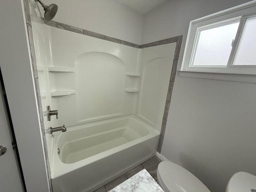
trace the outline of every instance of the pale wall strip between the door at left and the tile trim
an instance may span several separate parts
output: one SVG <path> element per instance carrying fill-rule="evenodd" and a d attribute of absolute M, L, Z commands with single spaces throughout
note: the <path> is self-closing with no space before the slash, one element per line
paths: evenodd
<path fill-rule="evenodd" d="M 0 67 L 27 192 L 48 192 L 22 0 L 0 2 Z"/>

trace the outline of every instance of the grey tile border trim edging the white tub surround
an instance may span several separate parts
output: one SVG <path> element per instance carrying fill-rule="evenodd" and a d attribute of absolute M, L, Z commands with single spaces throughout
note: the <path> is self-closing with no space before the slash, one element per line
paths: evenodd
<path fill-rule="evenodd" d="M 40 88 L 39 88 L 39 81 L 38 81 L 38 72 L 37 72 L 37 67 L 36 67 L 36 58 L 35 58 L 35 49 L 34 49 L 34 43 L 33 43 L 33 35 L 32 35 L 32 24 L 31 24 L 31 16 L 30 16 L 30 7 L 29 7 L 29 0 L 24 0 L 24 10 L 25 10 L 25 15 L 26 15 L 26 25 L 27 25 L 27 29 L 28 29 L 28 37 L 29 37 L 29 43 L 30 43 L 30 58 L 32 61 L 32 68 L 33 68 L 33 75 L 34 75 L 34 82 L 35 82 L 35 86 L 36 86 L 36 96 L 37 96 L 37 102 L 38 102 L 38 114 L 40 116 L 40 123 L 41 123 L 41 131 L 42 131 L 42 141 L 44 144 L 44 153 L 46 156 L 46 167 L 47 167 L 47 172 L 48 172 L 48 178 L 49 178 L 49 184 L 50 184 L 50 191 L 52 192 L 52 184 L 51 184 L 51 179 L 50 179 L 50 166 L 49 166 L 49 160 L 48 160 L 48 152 L 47 152 L 47 146 L 46 146 L 46 137 L 45 137 L 45 131 L 44 131 L 44 121 L 43 121 L 43 108 L 42 108 L 42 102 L 41 102 L 41 96 L 40 96 Z M 103 34 L 98 34 L 95 32 L 91 32 L 85 29 L 81 29 L 81 28 L 77 28 L 74 26 L 70 26 L 67 24 L 63 24 L 60 22 L 55 22 L 55 21 L 50 21 L 47 22 L 46 20 L 44 20 L 45 24 L 52 26 L 52 27 L 56 27 L 56 28 L 60 28 L 60 29 L 64 29 L 64 30 L 68 30 L 68 31 L 72 31 L 72 32 L 76 32 L 79 34 L 84 34 L 87 36 L 92 36 L 94 38 L 100 38 L 103 40 L 107 40 L 107 41 L 111 41 L 111 42 L 115 42 L 118 44 L 123 44 L 126 46 L 131 46 L 134 48 L 147 48 L 147 47 L 152 47 L 152 46 L 158 46 L 158 45 L 163 45 L 163 44 L 168 44 L 168 43 L 173 43 L 173 42 L 177 42 L 176 43 L 176 50 L 175 50 L 175 54 L 174 54 L 174 60 L 173 60 L 173 65 L 172 65 L 172 72 L 171 72 L 171 77 L 170 77 L 170 82 L 169 82 L 169 88 L 168 88 L 168 94 L 167 94 L 167 98 L 166 98 L 166 105 L 165 105 L 165 109 L 164 109 L 164 116 L 163 116 L 163 120 L 162 120 L 162 127 L 161 127 L 161 133 L 160 133 L 160 139 L 159 139 L 159 144 L 158 144 L 158 152 L 161 152 L 161 148 L 162 148 L 162 142 L 164 139 L 164 132 L 165 132 L 165 128 L 166 128 L 166 120 L 168 117 L 168 112 L 169 112 L 169 106 L 170 106 L 170 101 L 171 101 L 171 96 L 172 96 L 172 88 L 174 85 L 174 80 L 175 80 L 175 75 L 176 75 L 176 71 L 177 71 L 177 65 L 178 65 L 178 59 L 179 59 L 179 55 L 180 55 L 180 48 L 181 48 L 181 43 L 182 43 L 182 36 L 176 36 L 176 37 L 172 37 L 172 38 L 168 38 L 168 39 L 164 39 L 164 40 L 160 40 L 160 41 L 156 41 L 156 42 L 152 42 L 152 43 L 148 43 L 148 44 L 143 44 L 143 45 L 138 45 L 138 44 L 134 44 L 131 42 L 126 42 L 124 40 L 120 40 L 120 39 L 116 39 L 110 36 L 105 36 Z"/>

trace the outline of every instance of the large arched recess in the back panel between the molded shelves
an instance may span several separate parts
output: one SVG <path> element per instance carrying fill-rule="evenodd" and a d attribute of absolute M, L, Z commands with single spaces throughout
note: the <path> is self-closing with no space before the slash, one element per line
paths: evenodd
<path fill-rule="evenodd" d="M 124 62 L 108 53 L 87 52 L 76 58 L 77 121 L 123 114 Z"/>

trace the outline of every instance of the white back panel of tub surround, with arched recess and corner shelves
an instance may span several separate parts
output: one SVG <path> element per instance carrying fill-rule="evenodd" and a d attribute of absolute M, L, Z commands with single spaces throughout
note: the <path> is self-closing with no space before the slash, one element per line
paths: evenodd
<path fill-rule="evenodd" d="M 136 114 L 141 50 L 58 28 L 51 34 L 50 70 L 61 68 L 50 71 L 54 126 Z"/>

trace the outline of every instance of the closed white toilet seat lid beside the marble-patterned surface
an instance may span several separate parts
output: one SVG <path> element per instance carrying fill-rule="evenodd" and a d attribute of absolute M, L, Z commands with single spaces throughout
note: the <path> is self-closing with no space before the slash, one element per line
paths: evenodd
<path fill-rule="evenodd" d="M 165 192 L 210 192 L 196 176 L 169 161 L 158 165 L 157 180 Z"/>

